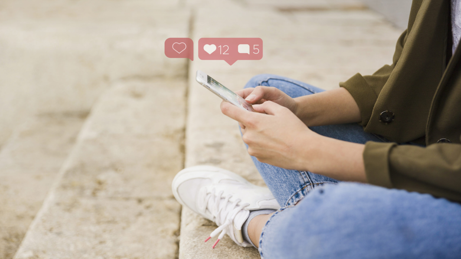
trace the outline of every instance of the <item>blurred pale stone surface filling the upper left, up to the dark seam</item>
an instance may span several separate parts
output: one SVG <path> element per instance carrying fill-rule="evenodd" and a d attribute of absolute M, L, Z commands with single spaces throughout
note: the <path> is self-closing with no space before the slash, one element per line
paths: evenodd
<path fill-rule="evenodd" d="M 163 42 L 188 29 L 179 0 L 0 1 L 0 146 L 37 112 L 88 111 L 120 78 L 185 77 Z"/>

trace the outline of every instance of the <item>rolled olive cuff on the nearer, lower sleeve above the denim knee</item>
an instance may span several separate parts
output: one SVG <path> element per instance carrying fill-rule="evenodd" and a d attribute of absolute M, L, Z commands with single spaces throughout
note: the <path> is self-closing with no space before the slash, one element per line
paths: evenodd
<path fill-rule="evenodd" d="M 368 183 L 392 188 L 389 171 L 389 153 L 396 143 L 368 141 L 363 151 L 365 174 Z"/>

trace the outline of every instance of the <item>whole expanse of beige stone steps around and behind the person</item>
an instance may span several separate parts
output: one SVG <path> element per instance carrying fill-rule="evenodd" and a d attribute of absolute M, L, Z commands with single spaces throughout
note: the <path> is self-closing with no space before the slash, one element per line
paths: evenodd
<path fill-rule="evenodd" d="M 12 108 L 28 120 L 41 116 L 29 126 L 0 115 L 9 123 L 0 144 L 16 132 L 0 151 L 0 191 L 7 194 L 0 198 L 0 258 L 6 259 L 259 258 L 227 236 L 211 249 L 203 240 L 215 225 L 171 194 L 174 175 L 192 165 L 220 166 L 264 185 L 236 122 L 195 82 L 195 71 L 233 90 L 260 73 L 332 89 L 390 63 L 400 35 L 358 0 L 82 0 L 24 9 L 25 3 L 2 3 L 14 12 L 0 20 L 21 22 L 0 25 L 0 42 L 13 53 L 12 64 L 0 69 L 29 64 L 28 70 L 22 81 L 11 73 L 0 85 L 21 82 L 19 94 L 4 98 L 9 104 L 40 89 L 47 94 L 33 107 Z M 164 56 L 166 38 L 188 36 L 195 53 L 201 37 L 260 37 L 264 57 L 229 66 L 197 54 L 194 61 Z M 34 48 L 26 44 L 31 39 Z M 56 72 L 37 81 L 31 75 L 47 53 L 42 71 Z M 24 64 L 17 61 L 23 57 Z M 65 122 L 54 119 L 61 118 L 56 110 Z"/>

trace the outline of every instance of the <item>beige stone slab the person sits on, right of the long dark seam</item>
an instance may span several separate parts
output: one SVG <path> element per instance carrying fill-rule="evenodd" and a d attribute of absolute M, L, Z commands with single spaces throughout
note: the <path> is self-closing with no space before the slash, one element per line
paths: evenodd
<path fill-rule="evenodd" d="M 231 66 L 222 60 L 190 62 L 185 165 L 217 165 L 256 184 L 263 182 L 246 153 L 237 123 L 221 114 L 218 97 L 195 82 L 195 71 L 206 72 L 232 90 L 260 73 L 332 89 L 356 72 L 370 74 L 389 64 L 400 35 L 380 15 L 366 10 L 277 12 L 244 9 L 231 2 L 207 6 L 196 9 L 195 42 L 201 37 L 260 37 L 264 56 Z M 227 236 L 211 249 L 212 244 L 203 240 L 214 228 L 183 208 L 179 258 L 258 258 L 256 249 L 238 247 Z"/>

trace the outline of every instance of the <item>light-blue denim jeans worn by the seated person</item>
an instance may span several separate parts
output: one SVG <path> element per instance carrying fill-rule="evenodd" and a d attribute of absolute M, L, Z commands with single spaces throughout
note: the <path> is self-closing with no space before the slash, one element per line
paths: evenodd
<path fill-rule="evenodd" d="M 245 88 L 258 85 L 279 88 L 291 97 L 323 91 L 275 75 L 253 77 Z M 311 130 L 355 143 L 387 141 L 364 132 L 358 124 Z M 461 258 L 459 203 L 429 194 L 338 182 L 252 159 L 282 206 L 263 228 L 261 258 Z"/>

